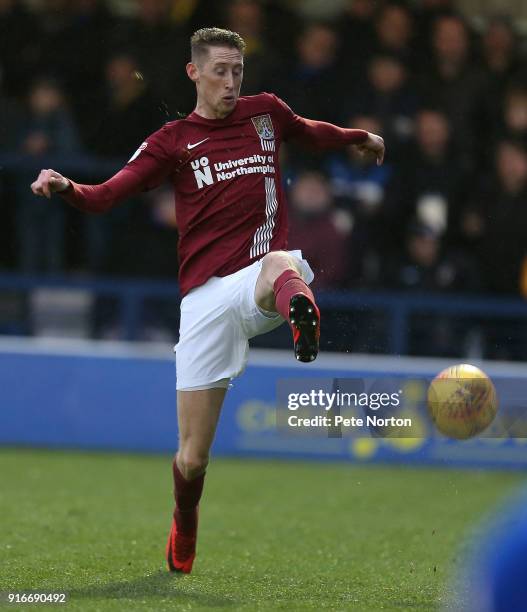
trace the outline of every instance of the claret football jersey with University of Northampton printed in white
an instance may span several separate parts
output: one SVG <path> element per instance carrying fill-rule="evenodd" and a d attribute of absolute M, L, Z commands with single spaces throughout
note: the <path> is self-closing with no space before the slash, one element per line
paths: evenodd
<path fill-rule="evenodd" d="M 360 144 L 367 132 L 304 119 L 273 94 L 239 98 L 224 119 L 195 112 L 152 134 L 117 175 L 71 187 L 72 205 L 104 212 L 169 179 L 179 231 L 182 295 L 287 246 L 280 145 L 289 138 L 322 148 Z"/>

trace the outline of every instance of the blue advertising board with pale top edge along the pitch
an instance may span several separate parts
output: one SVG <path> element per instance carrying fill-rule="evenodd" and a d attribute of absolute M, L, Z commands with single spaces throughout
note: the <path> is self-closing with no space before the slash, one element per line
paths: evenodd
<path fill-rule="evenodd" d="M 276 427 L 278 380 L 402 376 L 414 396 L 437 359 L 323 354 L 296 363 L 288 351 L 253 350 L 227 393 L 214 445 L 223 456 L 526 468 L 526 438 L 446 440 L 292 436 Z M 478 364 L 495 382 L 527 383 L 527 366 Z M 175 368 L 170 347 L 93 341 L 0 339 L 1 445 L 172 452 Z"/>

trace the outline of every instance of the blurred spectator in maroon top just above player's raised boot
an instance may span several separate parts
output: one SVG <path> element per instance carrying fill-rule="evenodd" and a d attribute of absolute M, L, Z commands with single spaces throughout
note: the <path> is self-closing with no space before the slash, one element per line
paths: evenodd
<path fill-rule="evenodd" d="M 301 249 L 317 270 L 317 288 L 342 285 L 347 275 L 350 222 L 335 208 L 327 180 L 318 173 L 301 174 L 293 183 L 289 201 L 289 245 Z"/>

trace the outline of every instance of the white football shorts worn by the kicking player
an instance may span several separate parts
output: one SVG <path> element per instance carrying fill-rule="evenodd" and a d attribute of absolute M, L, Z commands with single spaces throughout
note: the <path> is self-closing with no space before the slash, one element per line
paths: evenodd
<path fill-rule="evenodd" d="M 301 251 L 289 251 L 301 262 L 306 283 L 313 271 Z M 181 300 L 179 342 L 176 344 L 176 388 L 227 387 L 247 365 L 249 338 L 265 334 L 284 322 L 264 313 L 254 301 L 262 260 L 229 276 L 213 276 Z"/>

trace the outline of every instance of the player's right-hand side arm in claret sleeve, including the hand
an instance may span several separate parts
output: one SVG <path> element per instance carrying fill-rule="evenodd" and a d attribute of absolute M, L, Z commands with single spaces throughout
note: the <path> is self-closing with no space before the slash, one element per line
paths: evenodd
<path fill-rule="evenodd" d="M 325 121 L 306 119 L 294 113 L 285 102 L 273 96 L 278 105 L 280 123 L 286 139 L 292 139 L 317 149 L 338 149 L 355 145 L 362 153 L 373 153 L 377 165 L 384 161 L 384 140 L 377 134 L 341 128 Z"/>

